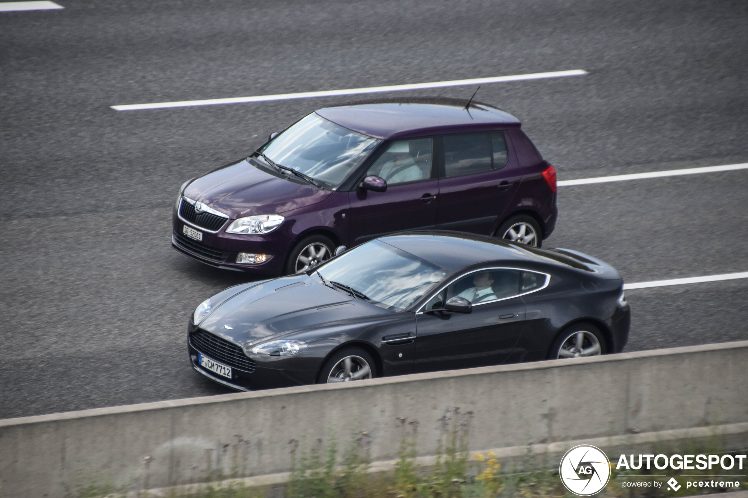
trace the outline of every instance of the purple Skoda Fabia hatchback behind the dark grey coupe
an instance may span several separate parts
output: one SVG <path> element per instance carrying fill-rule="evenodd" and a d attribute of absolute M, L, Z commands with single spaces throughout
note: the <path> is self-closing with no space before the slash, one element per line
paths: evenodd
<path fill-rule="evenodd" d="M 539 247 L 557 217 L 556 171 L 521 123 L 458 99 L 319 109 L 248 158 L 186 181 L 172 246 L 227 270 L 310 270 L 340 246 L 441 228 Z"/>

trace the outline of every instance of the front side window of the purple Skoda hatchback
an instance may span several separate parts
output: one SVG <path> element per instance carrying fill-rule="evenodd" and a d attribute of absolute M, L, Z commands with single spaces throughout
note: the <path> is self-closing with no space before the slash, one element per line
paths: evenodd
<path fill-rule="evenodd" d="M 431 179 L 432 139 L 396 140 L 369 168 L 387 186 Z"/>

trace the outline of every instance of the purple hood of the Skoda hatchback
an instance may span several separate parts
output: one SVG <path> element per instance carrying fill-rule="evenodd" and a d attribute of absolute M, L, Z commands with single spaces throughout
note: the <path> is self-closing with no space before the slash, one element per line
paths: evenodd
<path fill-rule="evenodd" d="M 320 202 L 330 193 L 330 190 L 279 178 L 244 160 L 197 178 L 187 186 L 184 196 L 231 218 L 240 218 L 281 214 Z"/>

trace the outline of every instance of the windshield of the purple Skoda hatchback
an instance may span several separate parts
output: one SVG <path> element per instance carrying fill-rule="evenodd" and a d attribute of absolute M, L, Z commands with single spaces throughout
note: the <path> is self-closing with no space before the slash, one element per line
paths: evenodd
<path fill-rule="evenodd" d="M 260 152 L 279 166 L 334 188 L 379 142 L 311 113 Z"/>

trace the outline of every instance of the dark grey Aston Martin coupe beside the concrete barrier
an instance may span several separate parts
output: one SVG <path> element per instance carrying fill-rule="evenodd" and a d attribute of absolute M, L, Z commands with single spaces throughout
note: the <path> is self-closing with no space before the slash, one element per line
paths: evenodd
<path fill-rule="evenodd" d="M 601 355 L 628 340 L 622 287 L 568 249 L 394 234 L 206 299 L 188 349 L 194 370 L 237 390 Z"/>

